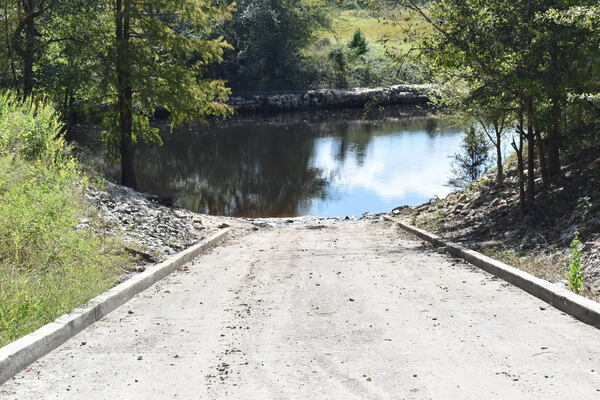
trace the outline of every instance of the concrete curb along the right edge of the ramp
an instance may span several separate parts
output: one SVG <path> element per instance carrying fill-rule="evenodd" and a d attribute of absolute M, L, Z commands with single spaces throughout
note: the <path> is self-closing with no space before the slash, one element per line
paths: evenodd
<path fill-rule="evenodd" d="M 554 306 L 555 308 L 577 318 L 581 322 L 600 329 L 600 304 L 575 294 L 565 288 L 554 285 L 548 281 L 537 278 L 527 272 L 521 271 L 508 264 L 504 264 L 493 258 L 484 256 L 474 250 L 468 249 L 456 243 L 442 239 L 441 237 L 416 228 L 412 225 L 398 221 L 390 216 L 384 215 L 386 221 L 397 224 L 402 229 L 424 239 L 435 247 L 445 247 L 451 255 L 463 260 L 505 280 L 508 283 L 526 291 L 540 300 Z"/>

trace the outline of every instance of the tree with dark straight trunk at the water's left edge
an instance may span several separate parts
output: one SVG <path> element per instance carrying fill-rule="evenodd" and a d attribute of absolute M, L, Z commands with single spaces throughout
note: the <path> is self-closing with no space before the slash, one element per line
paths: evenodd
<path fill-rule="evenodd" d="M 99 4 L 107 27 L 98 38 L 96 87 L 87 96 L 110 107 L 107 142 L 118 148 L 121 182 L 136 186 L 133 144 L 160 141 L 150 120 L 165 109 L 172 125 L 225 116 L 229 91 L 222 80 L 202 79 L 205 66 L 230 46 L 210 38 L 216 21 L 231 14 L 210 0 L 110 0 Z"/>

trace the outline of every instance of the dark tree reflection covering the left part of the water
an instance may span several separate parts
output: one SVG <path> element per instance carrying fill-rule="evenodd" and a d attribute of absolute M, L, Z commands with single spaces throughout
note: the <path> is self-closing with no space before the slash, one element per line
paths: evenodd
<path fill-rule="evenodd" d="M 165 133 L 162 147 L 137 146 L 140 190 L 215 215 L 306 215 L 315 202 L 344 196 L 335 187 L 342 173 L 339 168 L 349 159 L 363 167 L 375 138 L 398 132 L 448 133 L 447 122 L 396 112 L 238 116 L 213 125 L 187 126 Z M 334 147 L 336 166 L 328 170 L 315 159 L 324 141 Z M 367 209 L 369 205 L 364 205 Z"/>

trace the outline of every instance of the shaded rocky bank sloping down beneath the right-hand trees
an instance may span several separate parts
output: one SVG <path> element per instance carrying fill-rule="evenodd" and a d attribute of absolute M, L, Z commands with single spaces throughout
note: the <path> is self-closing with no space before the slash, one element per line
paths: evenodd
<path fill-rule="evenodd" d="M 506 179 L 495 182 L 486 174 L 471 187 L 434 198 L 417 207 L 393 213 L 404 221 L 460 242 L 537 277 L 568 287 L 570 244 L 576 232 L 584 242 L 584 296 L 600 300 L 600 188 L 594 171 L 600 170 L 600 148 L 565 155 L 563 176 L 537 194 L 539 211 L 521 218 L 518 178 L 514 162 Z M 543 206 L 542 206 L 543 205 Z"/>

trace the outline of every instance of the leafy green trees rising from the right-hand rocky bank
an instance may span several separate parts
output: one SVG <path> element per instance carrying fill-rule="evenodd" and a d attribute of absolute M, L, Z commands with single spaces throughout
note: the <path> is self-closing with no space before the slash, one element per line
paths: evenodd
<path fill-rule="evenodd" d="M 418 0 L 393 1 L 420 14 L 435 34 L 419 42 L 423 65 L 440 83 L 461 80 L 478 106 L 498 109 L 517 120 L 527 153 L 526 196 L 521 205 L 535 211 L 536 158 L 543 188 L 560 174 L 561 149 L 569 122 L 567 94 L 573 88 L 597 86 L 598 46 L 590 43 L 594 12 L 586 12 L 585 28 L 561 28 L 557 19 L 573 15 L 573 6 L 595 9 L 587 0 Z M 561 17 L 562 16 L 562 17 Z M 567 18 L 568 19 L 568 18 Z M 587 36 L 586 36 L 587 35 Z M 591 36 L 591 37 L 596 37 Z M 596 67 L 594 67 L 596 65 Z M 590 78 L 592 77 L 592 78 Z M 597 80 L 596 80 L 597 82 Z M 487 113 L 487 111 L 486 111 Z M 524 160 L 522 160 L 524 161 Z"/>

